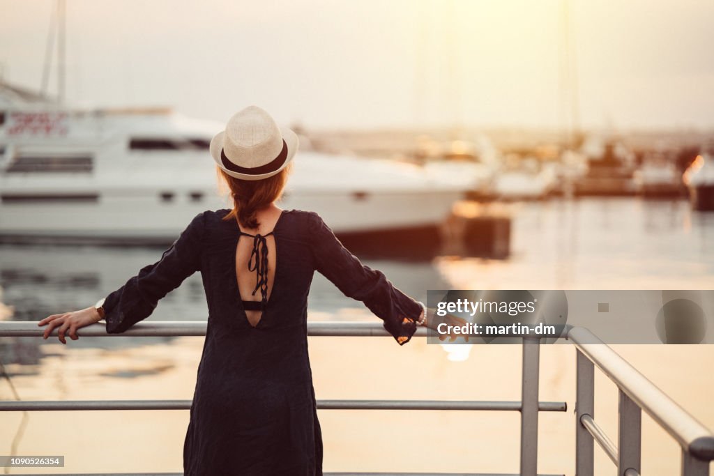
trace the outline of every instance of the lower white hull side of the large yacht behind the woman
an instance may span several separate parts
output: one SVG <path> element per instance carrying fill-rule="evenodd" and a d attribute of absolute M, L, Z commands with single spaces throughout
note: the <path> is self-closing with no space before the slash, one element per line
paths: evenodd
<path fill-rule="evenodd" d="M 196 214 L 230 208 L 216 192 L 89 191 L 41 199 L 4 191 L 0 240 L 109 243 L 170 243 Z M 55 198 L 57 195 L 55 195 Z M 288 191 L 278 205 L 316 211 L 338 234 L 379 233 L 438 226 L 461 198 L 458 191 Z"/>

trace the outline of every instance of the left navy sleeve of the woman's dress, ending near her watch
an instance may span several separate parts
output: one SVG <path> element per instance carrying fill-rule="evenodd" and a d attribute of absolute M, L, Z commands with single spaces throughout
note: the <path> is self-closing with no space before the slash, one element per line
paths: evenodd
<path fill-rule="evenodd" d="M 159 299 L 201 268 L 203 224 L 204 214 L 198 213 L 159 261 L 144 266 L 121 288 L 106 296 L 104 319 L 107 333 L 123 333 L 149 317 Z"/>

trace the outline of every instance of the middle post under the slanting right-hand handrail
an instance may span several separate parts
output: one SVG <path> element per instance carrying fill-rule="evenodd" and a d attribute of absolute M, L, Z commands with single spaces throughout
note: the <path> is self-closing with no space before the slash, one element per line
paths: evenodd
<path fill-rule="evenodd" d="M 623 476 L 630 468 L 640 472 L 642 410 L 622 390 L 618 393 L 618 476 Z"/>

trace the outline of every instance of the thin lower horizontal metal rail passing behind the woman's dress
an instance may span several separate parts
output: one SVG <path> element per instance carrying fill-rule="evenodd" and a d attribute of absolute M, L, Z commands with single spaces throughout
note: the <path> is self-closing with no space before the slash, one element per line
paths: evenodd
<path fill-rule="evenodd" d="M 521 411 L 521 402 L 476 400 L 317 400 L 322 410 Z M 0 400 L 0 412 L 68 410 L 188 410 L 191 400 Z M 565 412 L 565 402 L 540 402 L 541 412 Z"/>

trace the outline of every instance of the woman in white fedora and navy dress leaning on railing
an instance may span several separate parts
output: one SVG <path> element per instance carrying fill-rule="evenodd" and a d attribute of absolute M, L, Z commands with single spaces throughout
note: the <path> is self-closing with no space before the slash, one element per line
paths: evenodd
<path fill-rule="evenodd" d="M 308 360 L 307 298 L 318 271 L 381 318 L 399 345 L 426 307 L 343 248 L 317 213 L 281 210 L 298 148 L 255 106 L 234 115 L 211 141 L 233 209 L 199 213 L 161 259 L 94 307 L 50 315 L 47 338 L 106 320 L 122 333 L 159 299 L 200 271 L 208 327 L 183 450 L 184 474 L 321 475 L 322 437 Z"/>

